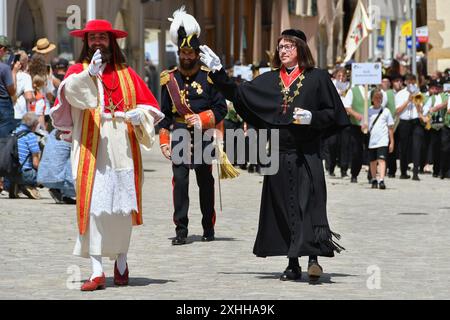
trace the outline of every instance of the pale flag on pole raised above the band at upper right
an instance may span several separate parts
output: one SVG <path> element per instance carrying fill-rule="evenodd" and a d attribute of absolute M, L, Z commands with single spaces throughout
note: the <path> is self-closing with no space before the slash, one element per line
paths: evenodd
<path fill-rule="evenodd" d="M 345 62 L 352 58 L 353 54 L 358 50 L 363 40 L 369 36 L 370 32 L 372 32 L 372 23 L 363 3 L 359 0 L 345 42 L 347 54 L 344 60 Z"/>

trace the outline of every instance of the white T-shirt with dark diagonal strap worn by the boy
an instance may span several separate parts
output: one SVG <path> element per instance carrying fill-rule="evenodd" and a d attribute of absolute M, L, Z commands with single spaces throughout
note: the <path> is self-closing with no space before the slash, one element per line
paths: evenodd
<path fill-rule="evenodd" d="M 369 149 L 389 146 L 389 127 L 394 126 L 394 119 L 389 109 L 383 108 L 383 113 L 377 123 L 373 125 L 381 110 L 381 108 L 375 109 L 373 106 L 369 108 L 369 130 L 371 130 Z"/>

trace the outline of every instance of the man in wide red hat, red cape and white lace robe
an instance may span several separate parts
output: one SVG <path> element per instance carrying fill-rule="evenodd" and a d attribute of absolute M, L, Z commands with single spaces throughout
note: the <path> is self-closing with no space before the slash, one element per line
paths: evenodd
<path fill-rule="evenodd" d="M 72 141 L 79 236 L 74 254 L 92 261 L 82 291 L 105 287 L 102 257 L 116 260 L 114 283 L 128 284 L 127 252 L 133 225 L 142 221 L 140 145 L 150 149 L 154 125 L 164 118 L 145 82 L 128 67 L 108 21 L 89 21 L 83 50 L 61 83 L 54 126 Z"/>

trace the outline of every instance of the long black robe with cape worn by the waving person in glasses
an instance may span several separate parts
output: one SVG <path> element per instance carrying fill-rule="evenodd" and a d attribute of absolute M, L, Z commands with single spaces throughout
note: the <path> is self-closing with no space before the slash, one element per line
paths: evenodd
<path fill-rule="evenodd" d="M 320 139 L 349 126 L 342 101 L 327 72 L 304 72 L 300 94 L 283 112 L 280 71 L 265 73 L 237 86 L 224 70 L 211 73 L 215 86 L 234 103 L 239 115 L 257 128 L 280 130 L 280 169 L 265 176 L 258 235 L 259 257 L 325 256 L 343 250 L 327 219 L 327 189 Z M 300 81 L 300 80 L 297 80 Z M 297 87 L 291 86 L 291 96 Z M 293 124 L 294 108 L 312 113 L 309 126 Z"/>

